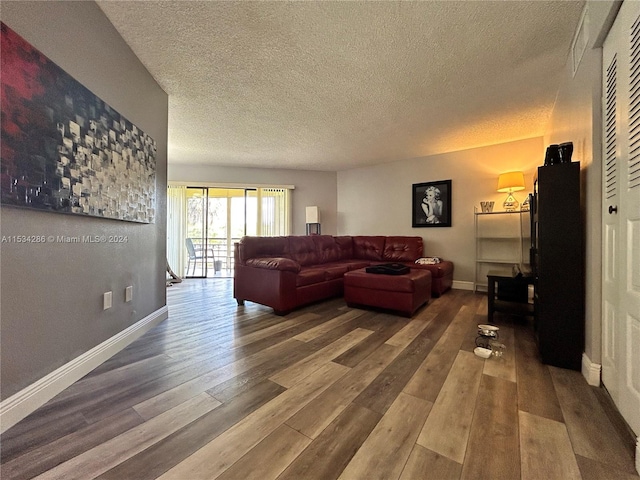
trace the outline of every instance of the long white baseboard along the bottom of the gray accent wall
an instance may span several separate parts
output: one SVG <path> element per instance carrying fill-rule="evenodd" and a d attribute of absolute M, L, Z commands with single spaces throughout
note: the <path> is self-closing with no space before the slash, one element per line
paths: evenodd
<path fill-rule="evenodd" d="M 47 403 L 169 316 L 164 307 L 93 347 L 0 403 L 0 433 Z"/>

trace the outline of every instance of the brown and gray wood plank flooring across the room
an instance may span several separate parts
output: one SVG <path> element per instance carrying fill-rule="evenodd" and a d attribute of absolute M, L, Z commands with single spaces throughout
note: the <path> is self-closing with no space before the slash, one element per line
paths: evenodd
<path fill-rule="evenodd" d="M 7 479 L 638 479 L 634 447 L 579 372 L 542 365 L 486 298 L 413 318 L 333 299 L 285 317 L 230 279 L 168 288 L 169 319 L 0 438 Z"/>

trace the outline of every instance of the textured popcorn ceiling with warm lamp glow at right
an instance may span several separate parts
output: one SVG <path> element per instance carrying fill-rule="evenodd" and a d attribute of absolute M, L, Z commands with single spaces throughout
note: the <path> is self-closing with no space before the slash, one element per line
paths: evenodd
<path fill-rule="evenodd" d="M 344 170 L 540 136 L 582 1 L 98 1 L 169 162 Z"/>

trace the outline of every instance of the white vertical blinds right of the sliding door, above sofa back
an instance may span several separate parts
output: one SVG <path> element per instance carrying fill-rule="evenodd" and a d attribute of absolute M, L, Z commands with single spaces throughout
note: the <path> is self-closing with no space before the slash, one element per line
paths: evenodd
<path fill-rule="evenodd" d="M 291 231 L 291 190 L 259 188 L 258 235 L 275 237 Z"/>

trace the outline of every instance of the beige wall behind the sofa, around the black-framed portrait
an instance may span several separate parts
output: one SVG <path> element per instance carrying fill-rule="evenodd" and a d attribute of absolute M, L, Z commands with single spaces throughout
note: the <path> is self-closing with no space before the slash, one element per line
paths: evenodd
<path fill-rule="evenodd" d="M 474 207 L 494 200 L 494 210 L 502 210 L 506 194 L 496 192 L 498 175 L 512 170 L 525 173 L 526 190 L 514 194 L 522 202 L 543 160 L 542 138 L 537 137 L 338 172 L 338 233 L 421 236 L 425 255 L 452 260 L 454 280 L 473 282 Z M 412 184 L 449 179 L 451 227 L 412 228 Z"/>

